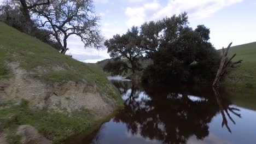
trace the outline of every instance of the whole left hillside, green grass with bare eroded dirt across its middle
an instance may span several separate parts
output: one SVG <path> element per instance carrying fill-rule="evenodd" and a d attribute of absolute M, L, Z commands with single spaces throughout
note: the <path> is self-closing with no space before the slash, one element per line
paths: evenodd
<path fill-rule="evenodd" d="M 0 22 L 0 132 L 32 125 L 54 143 L 87 131 L 123 100 L 95 64 L 62 55 Z M 1 141 L 1 140 L 0 140 Z"/>

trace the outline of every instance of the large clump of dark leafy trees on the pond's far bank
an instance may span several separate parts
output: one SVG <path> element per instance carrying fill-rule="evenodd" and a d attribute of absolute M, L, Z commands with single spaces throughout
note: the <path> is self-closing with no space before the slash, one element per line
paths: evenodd
<path fill-rule="evenodd" d="M 127 67 L 133 73 L 142 70 L 139 58 L 150 59 L 152 63 L 143 70 L 146 82 L 205 83 L 214 79 L 220 61 L 209 39 L 209 28 L 204 25 L 191 28 L 187 13 L 182 13 L 146 22 L 140 28 L 132 27 L 104 44 L 110 57 L 128 61 L 131 67 Z"/>

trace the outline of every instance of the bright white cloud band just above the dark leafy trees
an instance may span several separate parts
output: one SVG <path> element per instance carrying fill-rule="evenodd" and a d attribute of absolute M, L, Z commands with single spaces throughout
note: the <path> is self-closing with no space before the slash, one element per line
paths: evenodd
<path fill-rule="evenodd" d="M 202 19 L 211 16 L 218 10 L 240 3 L 243 0 L 169 0 L 166 4 L 158 1 L 143 4 L 139 7 L 127 7 L 125 14 L 129 17 L 128 26 L 139 26 L 149 20 L 159 20 L 165 16 L 187 11 L 190 17 Z"/>

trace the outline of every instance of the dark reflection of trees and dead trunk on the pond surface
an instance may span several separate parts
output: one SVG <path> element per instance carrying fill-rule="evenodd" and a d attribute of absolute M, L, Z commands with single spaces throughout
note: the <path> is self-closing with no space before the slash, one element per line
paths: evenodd
<path fill-rule="evenodd" d="M 209 135 L 208 124 L 217 113 L 221 113 L 222 126 L 230 132 L 226 115 L 234 124 L 229 111 L 241 117 L 228 99 L 220 97 L 217 91 L 214 95 L 211 88 L 203 88 L 205 91 L 202 92 L 202 88 L 143 88 L 127 82 L 115 82 L 114 85 L 123 94 L 125 105 L 114 121 L 125 123 L 131 134 L 150 140 L 186 143 L 193 135 L 202 140 Z"/>

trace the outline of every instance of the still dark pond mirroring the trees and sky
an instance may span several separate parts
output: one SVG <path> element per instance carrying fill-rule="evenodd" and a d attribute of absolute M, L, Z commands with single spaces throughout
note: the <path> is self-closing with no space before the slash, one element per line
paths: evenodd
<path fill-rule="evenodd" d="M 202 86 L 113 84 L 124 109 L 76 143 L 256 143 L 254 99 Z"/>

